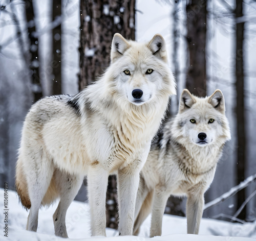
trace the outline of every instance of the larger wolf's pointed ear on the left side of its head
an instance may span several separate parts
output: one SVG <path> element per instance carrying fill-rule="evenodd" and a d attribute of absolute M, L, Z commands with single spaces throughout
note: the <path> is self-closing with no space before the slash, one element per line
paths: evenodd
<path fill-rule="evenodd" d="M 111 44 L 111 63 L 121 57 L 129 47 L 129 42 L 121 34 L 116 33 Z"/>

